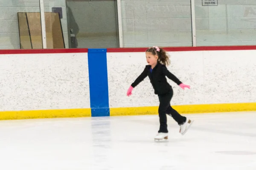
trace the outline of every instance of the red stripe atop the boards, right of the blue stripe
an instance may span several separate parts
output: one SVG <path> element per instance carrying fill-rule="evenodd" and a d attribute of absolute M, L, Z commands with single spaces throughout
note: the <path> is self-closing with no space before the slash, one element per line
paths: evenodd
<path fill-rule="evenodd" d="M 148 48 L 107 48 L 107 52 L 145 52 Z M 256 50 L 253 46 L 163 47 L 166 51 Z"/>

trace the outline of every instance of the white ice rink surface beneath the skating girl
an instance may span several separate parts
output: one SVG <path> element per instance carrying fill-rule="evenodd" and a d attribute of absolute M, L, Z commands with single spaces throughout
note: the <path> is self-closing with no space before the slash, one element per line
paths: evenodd
<path fill-rule="evenodd" d="M 0 121 L 1 170 L 256 170 L 256 112 Z"/>

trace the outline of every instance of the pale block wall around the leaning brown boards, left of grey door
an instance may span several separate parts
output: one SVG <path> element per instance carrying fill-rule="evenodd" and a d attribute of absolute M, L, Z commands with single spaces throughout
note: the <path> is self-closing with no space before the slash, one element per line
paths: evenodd
<path fill-rule="evenodd" d="M 52 7 L 62 7 L 61 19 L 65 45 L 67 39 L 67 14 L 65 0 L 44 0 L 45 12 Z M 40 12 L 39 0 L 0 0 L 0 49 L 19 49 L 19 26 L 17 12 Z"/>

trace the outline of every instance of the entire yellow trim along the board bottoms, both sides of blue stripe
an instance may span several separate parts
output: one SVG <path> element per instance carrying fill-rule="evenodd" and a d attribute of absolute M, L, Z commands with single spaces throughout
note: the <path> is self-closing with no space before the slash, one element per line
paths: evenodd
<path fill-rule="evenodd" d="M 215 113 L 215 112 L 239 112 L 256 111 L 256 103 L 227 103 L 207 105 L 176 105 L 172 106 L 179 113 Z M 110 108 L 110 116 L 128 115 L 155 115 L 158 114 L 158 106 Z M 0 111 L 0 120 L 11 119 L 43 119 L 43 118 L 68 118 L 91 117 L 90 108 L 60 109 L 40 111 Z"/>

